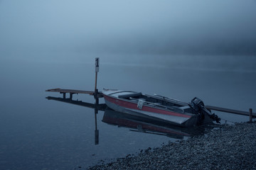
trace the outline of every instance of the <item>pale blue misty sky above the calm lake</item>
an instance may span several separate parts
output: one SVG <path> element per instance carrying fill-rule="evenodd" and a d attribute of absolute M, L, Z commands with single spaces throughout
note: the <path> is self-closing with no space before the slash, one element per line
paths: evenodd
<path fill-rule="evenodd" d="M 256 55 L 256 1 L 0 1 L 0 54 Z"/>

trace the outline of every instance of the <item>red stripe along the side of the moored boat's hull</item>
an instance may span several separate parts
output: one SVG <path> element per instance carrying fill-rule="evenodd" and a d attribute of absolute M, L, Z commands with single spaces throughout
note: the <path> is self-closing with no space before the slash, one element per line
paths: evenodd
<path fill-rule="evenodd" d="M 130 108 L 130 109 L 134 109 L 134 110 L 138 110 L 138 111 L 147 111 L 147 112 L 152 112 L 152 113 L 160 113 L 160 114 L 164 114 L 164 115 L 175 115 L 175 116 L 179 116 L 179 117 L 183 117 L 183 118 L 191 118 L 191 115 L 185 115 L 185 114 L 181 114 L 181 113 L 175 113 L 175 112 L 171 112 L 171 111 L 165 111 L 165 110 L 161 110 L 159 108 L 151 108 L 149 106 L 143 106 L 142 110 L 137 108 L 137 103 L 132 103 L 129 101 L 123 101 L 120 100 L 119 98 L 113 98 L 110 96 L 106 96 L 103 95 L 105 100 L 114 103 L 118 106 L 122 106 L 124 108 Z"/>

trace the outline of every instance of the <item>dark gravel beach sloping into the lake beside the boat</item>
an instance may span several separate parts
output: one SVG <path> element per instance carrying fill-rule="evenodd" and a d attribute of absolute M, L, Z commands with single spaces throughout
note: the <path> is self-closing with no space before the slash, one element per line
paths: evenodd
<path fill-rule="evenodd" d="M 220 125 L 206 135 L 89 169 L 256 169 L 256 123 Z"/>

